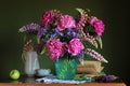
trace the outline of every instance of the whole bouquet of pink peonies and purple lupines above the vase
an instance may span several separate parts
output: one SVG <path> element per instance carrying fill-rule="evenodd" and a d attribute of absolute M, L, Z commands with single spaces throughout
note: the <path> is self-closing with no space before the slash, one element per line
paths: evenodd
<path fill-rule="evenodd" d="M 57 10 L 47 11 L 41 15 L 41 24 L 23 26 L 20 32 L 27 37 L 24 53 L 28 49 L 37 51 L 38 54 L 47 53 L 52 60 L 64 56 L 83 59 L 84 55 L 88 55 L 107 62 L 101 54 L 90 47 L 93 45 L 95 48 L 102 48 L 104 23 L 95 16 L 89 16 L 89 10 L 76 10 L 78 15 L 75 17 L 62 14 Z M 34 41 L 34 38 L 37 41 Z"/>

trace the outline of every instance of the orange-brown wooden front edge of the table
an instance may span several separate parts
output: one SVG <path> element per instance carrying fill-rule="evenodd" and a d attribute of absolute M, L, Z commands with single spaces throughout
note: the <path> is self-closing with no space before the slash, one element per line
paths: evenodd
<path fill-rule="evenodd" d="M 0 86 L 126 86 L 123 83 L 87 83 L 87 84 L 32 84 L 0 83 Z"/>

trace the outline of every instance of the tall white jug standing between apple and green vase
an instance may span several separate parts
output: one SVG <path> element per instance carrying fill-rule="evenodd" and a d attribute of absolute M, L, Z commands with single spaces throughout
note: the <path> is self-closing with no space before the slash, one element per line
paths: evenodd
<path fill-rule="evenodd" d="M 27 76 L 34 76 L 38 69 L 40 69 L 40 67 L 37 52 L 27 52 L 25 57 L 25 74 Z"/>

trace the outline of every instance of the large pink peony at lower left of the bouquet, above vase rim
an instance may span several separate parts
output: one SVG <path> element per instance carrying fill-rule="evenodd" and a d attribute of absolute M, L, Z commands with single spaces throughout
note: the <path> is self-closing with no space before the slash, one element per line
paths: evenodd
<path fill-rule="evenodd" d="M 47 48 L 52 60 L 57 60 L 58 57 L 65 54 L 65 43 L 60 42 L 58 39 L 49 40 Z"/>

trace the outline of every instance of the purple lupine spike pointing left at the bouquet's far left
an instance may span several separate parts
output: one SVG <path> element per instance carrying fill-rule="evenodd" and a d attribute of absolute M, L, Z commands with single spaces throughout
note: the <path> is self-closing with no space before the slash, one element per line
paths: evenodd
<path fill-rule="evenodd" d="M 41 26 L 39 24 L 31 23 L 26 26 L 23 26 L 20 29 L 20 32 L 37 33 L 40 28 L 41 28 Z"/>

